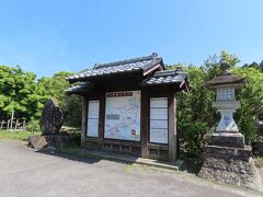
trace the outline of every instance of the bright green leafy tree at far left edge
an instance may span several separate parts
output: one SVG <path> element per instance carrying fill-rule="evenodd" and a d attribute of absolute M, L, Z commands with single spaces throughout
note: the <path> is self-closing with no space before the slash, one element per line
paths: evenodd
<path fill-rule="evenodd" d="M 0 66 L 0 118 L 8 119 L 12 112 L 25 119 L 39 118 L 45 96 L 39 94 L 35 74 L 20 67 Z"/>

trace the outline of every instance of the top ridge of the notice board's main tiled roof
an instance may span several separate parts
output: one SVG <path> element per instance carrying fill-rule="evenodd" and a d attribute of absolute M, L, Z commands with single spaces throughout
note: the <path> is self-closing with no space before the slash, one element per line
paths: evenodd
<path fill-rule="evenodd" d="M 160 57 L 158 57 L 157 53 L 152 53 L 150 56 L 144 56 L 144 57 L 138 57 L 138 58 L 125 59 L 125 60 L 121 60 L 121 61 L 113 61 L 113 62 L 100 63 L 100 65 L 95 63 L 93 69 L 118 66 L 118 65 L 124 65 L 124 63 L 132 63 L 132 62 L 136 62 L 136 61 L 148 60 L 148 59 L 150 60 L 150 59 L 153 59 L 153 58 L 160 58 Z"/>

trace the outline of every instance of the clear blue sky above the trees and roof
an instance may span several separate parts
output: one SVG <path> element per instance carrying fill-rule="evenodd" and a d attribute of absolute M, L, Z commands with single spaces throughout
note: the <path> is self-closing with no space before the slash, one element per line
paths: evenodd
<path fill-rule="evenodd" d="M 263 60 L 262 0 L 0 0 L 0 65 L 37 77 L 157 51 L 199 66 Z"/>

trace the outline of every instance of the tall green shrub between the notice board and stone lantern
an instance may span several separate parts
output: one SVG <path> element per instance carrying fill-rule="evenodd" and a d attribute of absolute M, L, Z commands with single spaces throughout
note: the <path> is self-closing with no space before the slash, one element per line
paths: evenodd
<path fill-rule="evenodd" d="M 205 138 L 209 128 L 215 126 L 216 113 L 211 108 L 215 93 L 204 86 L 206 72 L 197 67 L 184 67 L 191 81 L 190 92 L 178 93 L 178 130 L 181 153 L 201 159 Z"/>

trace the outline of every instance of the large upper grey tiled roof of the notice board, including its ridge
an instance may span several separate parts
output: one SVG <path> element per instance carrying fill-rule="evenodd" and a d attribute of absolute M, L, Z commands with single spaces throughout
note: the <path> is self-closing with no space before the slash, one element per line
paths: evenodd
<path fill-rule="evenodd" d="M 104 77 L 115 73 L 124 73 L 132 71 L 147 71 L 158 63 L 162 63 L 162 58 L 158 57 L 156 53 L 151 56 L 140 57 L 135 59 L 128 59 L 123 61 L 115 61 L 103 65 L 95 65 L 92 70 L 84 71 L 82 73 L 73 74 L 67 78 L 67 80 L 75 82 L 81 81 L 84 79 L 95 78 L 95 77 Z"/>

